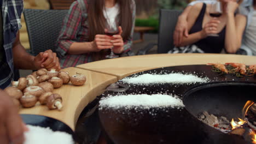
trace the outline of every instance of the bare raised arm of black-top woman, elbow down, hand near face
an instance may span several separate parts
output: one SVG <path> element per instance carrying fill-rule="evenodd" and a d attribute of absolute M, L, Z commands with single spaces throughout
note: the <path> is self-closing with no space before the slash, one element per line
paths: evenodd
<path fill-rule="evenodd" d="M 227 22 L 225 35 L 225 49 L 228 53 L 235 53 L 241 47 L 242 35 L 246 26 L 246 17 L 234 11 L 238 7 L 235 2 L 229 2 L 226 8 Z"/>

